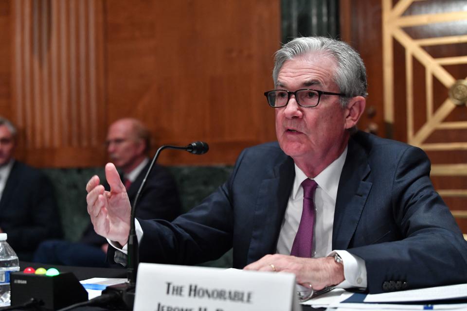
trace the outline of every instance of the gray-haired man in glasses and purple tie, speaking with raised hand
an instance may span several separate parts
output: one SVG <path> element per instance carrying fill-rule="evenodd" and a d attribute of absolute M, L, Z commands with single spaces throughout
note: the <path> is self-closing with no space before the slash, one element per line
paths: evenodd
<path fill-rule="evenodd" d="M 230 179 L 171 224 L 137 220 L 140 260 L 194 264 L 234 249 L 234 267 L 370 293 L 467 281 L 467 243 L 415 147 L 362 133 L 366 70 L 347 44 L 296 38 L 275 56 L 278 142 L 242 152 Z M 129 202 L 112 164 L 92 177 L 96 232 L 125 251 Z M 109 250 L 110 253 L 110 250 Z"/>

